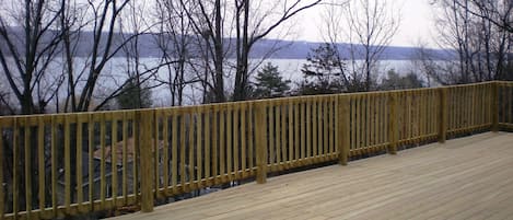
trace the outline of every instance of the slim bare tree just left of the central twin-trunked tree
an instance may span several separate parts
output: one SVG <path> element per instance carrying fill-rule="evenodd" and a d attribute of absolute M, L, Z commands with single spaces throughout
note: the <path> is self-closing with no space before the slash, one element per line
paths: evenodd
<path fill-rule="evenodd" d="M 186 13 L 186 10 L 190 9 L 184 7 L 193 5 L 159 0 L 154 10 L 159 30 L 154 37 L 155 43 L 161 51 L 161 62 L 168 63 L 163 67 L 166 72 L 165 78 L 158 76 L 156 80 L 168 86 L 172 106 L 184 104 L 184 90 L 188 84 L 201 82 L 203 94 L 213 89 L 208 80 L 208 61 L 202 65 L 194 61 L 202 57 L 198 55 L 202 51 L 198 49 L 201 47 L 202 38 L 195 36 L 193 24 Z"/>

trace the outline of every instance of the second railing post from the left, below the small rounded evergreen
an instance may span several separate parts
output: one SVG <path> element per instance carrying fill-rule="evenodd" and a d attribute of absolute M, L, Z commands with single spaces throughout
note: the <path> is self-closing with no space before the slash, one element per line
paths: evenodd
<path fill-rule="evenodd" d="M 265 102 L 255 102 L 255 148 L 256 148 L 256 165 L 258 184 L 267 182 L 267 106 Z"/>

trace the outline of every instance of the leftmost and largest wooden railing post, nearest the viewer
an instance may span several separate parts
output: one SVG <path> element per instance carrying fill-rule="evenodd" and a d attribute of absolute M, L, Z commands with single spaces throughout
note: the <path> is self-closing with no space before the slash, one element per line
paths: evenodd
<path fill-rule="evenodd" d="M 139 123 L 139 147 L 140 164 L 141 164 L 141 211 L 153 211 L 153 150 L 158 150 L 152 141 L 152 126 L 154 121 L 154 111 L 138 111 L 136 119 Z"/>

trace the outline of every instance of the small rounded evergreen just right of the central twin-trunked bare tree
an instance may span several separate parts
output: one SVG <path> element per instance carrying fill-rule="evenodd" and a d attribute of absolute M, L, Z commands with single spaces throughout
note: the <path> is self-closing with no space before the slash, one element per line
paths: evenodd
<path fill-rule="evenodd" d="M 290 80 L 283 80 L 278 67 L 270 62 L 258 70 L 255 80 L 254 96 L 258 99 L 284 96 L 290 90 Z"/>

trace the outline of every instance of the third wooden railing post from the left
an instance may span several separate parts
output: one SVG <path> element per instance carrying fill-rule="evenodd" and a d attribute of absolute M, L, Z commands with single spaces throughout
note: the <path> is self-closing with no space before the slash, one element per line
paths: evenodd
<path fill-rule="evenodd" d="M 338 106 L 337 106 L 337 114 L 338 114 L 338 136 L 340 137 L 338 140 L 338 158 L 340 165 L 348 164 L 348 157 L 349 157 L 349 123 L 350 123 L 350 114 L 349 114 L 349 95 L 341 95 L 338 97 Z"/>

